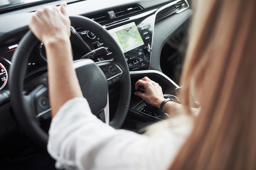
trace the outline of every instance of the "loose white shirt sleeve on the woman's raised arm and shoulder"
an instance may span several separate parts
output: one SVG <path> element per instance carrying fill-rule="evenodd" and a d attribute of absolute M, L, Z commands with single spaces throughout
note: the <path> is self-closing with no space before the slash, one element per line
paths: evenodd
<path fill-rule="evenodd" d="M 170 130 L 155 137 L 116 130 L 91 113 L 85 98 L 74 98 L 52 119 L 47 149 L 56 168 L 164 170 L 183 142 Z"/>

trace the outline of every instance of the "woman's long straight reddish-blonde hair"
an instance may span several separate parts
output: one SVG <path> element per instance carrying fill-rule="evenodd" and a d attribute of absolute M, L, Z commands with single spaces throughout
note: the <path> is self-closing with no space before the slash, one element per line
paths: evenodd
<path fill-rule="evenodd" d="M 201 108 L 169 169 L 256 169 L 256 0 L 195 6 L 180 98 Z"/>

